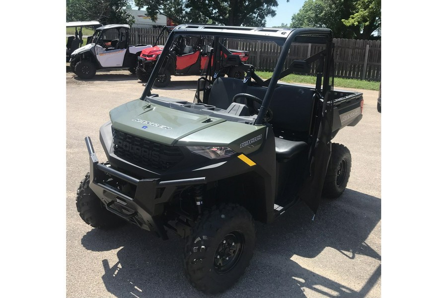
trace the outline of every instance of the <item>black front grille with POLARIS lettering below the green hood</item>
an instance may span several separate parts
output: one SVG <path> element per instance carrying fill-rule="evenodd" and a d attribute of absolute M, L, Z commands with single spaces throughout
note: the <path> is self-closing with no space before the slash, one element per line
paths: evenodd
<path fill-rule="evenodd" d="M 183 159 L 178 147 L 124 133 L 112 128 L 113 153 L 148 170 L 167 170 Z"/>

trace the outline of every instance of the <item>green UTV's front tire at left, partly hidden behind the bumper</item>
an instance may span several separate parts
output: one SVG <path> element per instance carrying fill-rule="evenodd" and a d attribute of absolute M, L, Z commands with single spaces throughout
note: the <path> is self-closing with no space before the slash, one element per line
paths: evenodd
<path fill-rule="evenodd" d="M 101 200 L 89 187 L 90 173 L 80 182 L 77 189 L 76 208 L 80 218 L 97 228 L 114 228 L 126 224 L 126 221 L 108 211 Z"/>

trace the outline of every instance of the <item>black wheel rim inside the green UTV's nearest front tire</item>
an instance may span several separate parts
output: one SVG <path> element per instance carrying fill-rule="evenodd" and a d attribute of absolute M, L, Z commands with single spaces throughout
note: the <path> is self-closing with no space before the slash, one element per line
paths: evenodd
<path fill-rule="evenodd" d="M 237 264 L 244 249 L 244 236 L 240 231 L 232 231 L 222 239 L 214 254 L 214 269 L 225 274 Z"/>

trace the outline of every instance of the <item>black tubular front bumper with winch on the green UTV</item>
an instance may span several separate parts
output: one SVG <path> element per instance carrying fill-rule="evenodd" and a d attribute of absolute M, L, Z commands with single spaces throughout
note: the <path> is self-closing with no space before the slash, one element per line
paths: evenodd
<path fill-rule="evenodd" d="M 140 227 L 157 232 L 167 239 L 163 226 L 164 204 L 185 186 L 205 184 L 205 177 L 165 180 L 160 178 L 137 179 L 99 163 L 89 137 L 85 138 L 90 156 L 90 188 L 106 209 Z M 122 185 L 129 185 L 124 191 Z"/>

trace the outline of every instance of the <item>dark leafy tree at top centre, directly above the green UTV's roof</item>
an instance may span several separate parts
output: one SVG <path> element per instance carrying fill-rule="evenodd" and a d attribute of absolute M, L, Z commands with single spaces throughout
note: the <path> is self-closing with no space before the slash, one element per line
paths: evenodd
<path fill-rule="evenodd" d="M 288 0 L 289 1 L 289 0 Z M 207 23 L 229 26 L 265 26 L 266 17 L 275 16 L 277 0 L 135 0 L 139 8 L 146 8 L 146 15 L 156 20 L 158 13 L 174 22 Z M 175 8 L 181 7 L 180 13 Z"/>

